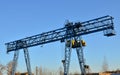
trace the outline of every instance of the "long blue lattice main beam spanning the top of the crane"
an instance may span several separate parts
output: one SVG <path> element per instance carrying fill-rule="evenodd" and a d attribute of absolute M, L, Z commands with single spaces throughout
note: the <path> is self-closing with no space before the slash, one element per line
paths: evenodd
<path fill-rule="evenodd" d="M 71 32 L 66 34 L 68 30 Z M 107 15 L 85 22 L 68 22 L 63 28 L 8 42 L 6 43 L 7 53 L 99 31 L 104 31 L 105 36 L 115 35 L 112 16 Z"/>

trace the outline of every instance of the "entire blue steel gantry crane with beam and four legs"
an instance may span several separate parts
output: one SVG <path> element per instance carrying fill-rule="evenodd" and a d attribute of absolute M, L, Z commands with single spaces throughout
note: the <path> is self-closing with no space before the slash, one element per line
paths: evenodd
<path fill-rule="evenodd" d="M 5 44 L 7 46 L 7 53 L 14 51 L 12 75 L 16 71 L 20 49 L 24 51 L 28 74 L 32 75 L 28 48 L 55 41 L 65 42 L 65 59 L 62 61 L 64 63 L 64 75 L 68 75 L 72 48 L 76 49 L 81 74 L 86 75 L 82 48 L 85 43 L 81 36 L 100 31 L 104 32 L 104 36 L 115 35 L 112 16 L 107 15 L 85 22 L 68 22 L 63 28 L 8 42 Z"/>

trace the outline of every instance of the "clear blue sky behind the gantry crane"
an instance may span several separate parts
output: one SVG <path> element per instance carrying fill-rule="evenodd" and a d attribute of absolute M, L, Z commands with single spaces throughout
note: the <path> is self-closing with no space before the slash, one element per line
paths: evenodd
<path fill-rule="evenodd" d="M 64 26 L 65 21 L 83 22 L 97 17 L 114 17 L 116 36 L 103 32 L 83 36 L 86 64 L 92 72 L 102 69 L 104 56 L 109 70 L 120 69 L 120 1 L 119 0 L 1 0 L 0 1 L 0 63 L 7 64 L 13 53 L 6 54 L 5 43 L 47 32 Z M 51 70 L 63 67 L 64 43 L 53 42 L 43 47 L 29 48 L 32 69 L 42 66 Z M 74 68 L 74 70 L 73 70 Z M 26 71 L 23 51 L 20 51 L 17 71 Z M 33 70 L 34 71 L 34 70 Z M 75 50 L 72 51 L 70 71 L 79 72 Z"/>

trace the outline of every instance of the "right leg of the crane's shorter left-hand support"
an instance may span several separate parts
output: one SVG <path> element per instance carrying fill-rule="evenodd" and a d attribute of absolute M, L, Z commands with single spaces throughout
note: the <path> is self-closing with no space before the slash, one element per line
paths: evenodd
<path fill-rule="evenodd" d="M 27 66 L 28 75 L 32 75 L 29 52 L 28 52 L 27 48 L 24 48 L 24 57 L 25 57 L 25 62 L 26 62 L 26 66 Z"/>

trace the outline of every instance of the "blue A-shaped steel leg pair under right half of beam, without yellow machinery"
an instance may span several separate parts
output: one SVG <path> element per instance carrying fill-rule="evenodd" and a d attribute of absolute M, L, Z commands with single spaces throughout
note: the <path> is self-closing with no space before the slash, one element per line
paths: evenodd
<path fill-rule="evenodd" d="M 67 40 L 71 40 L 70 41 L 70 47 L 66 46 Z M 65 58 L 64 58 L 64 62 L 63 62 L 63 66 L 64 66 L 64 75 L 68 75 L 69 73 L 69 66 L 70 66 L 70 58 L 71 58 L 71 51 L 72 51 L 72 40 L 82 40 L 81 37 L 74 37 L 71 39 L 66 39 L 66 43 L 65 43 Z M 83 54 L 83 47 L 82 44 L 80 42 L 80 47 L 76 47 L 76 53 L 78 56 L 78 61 L 79 61 L 79 65 L 80 65 L 80 69 L 81 69 L 81 75 L 86 75 L 86 71 L 85 71 L 85 62 L 84 62 L 84 54 Z"/>

